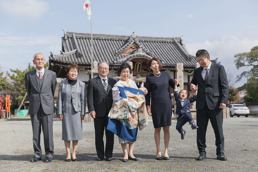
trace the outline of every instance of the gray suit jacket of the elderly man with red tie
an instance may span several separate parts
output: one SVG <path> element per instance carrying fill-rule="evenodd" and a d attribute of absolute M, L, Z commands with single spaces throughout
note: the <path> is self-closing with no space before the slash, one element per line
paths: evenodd
<path fill-rule="evenodd" d="M 40 103 L 45 114 L 53 114 L 56 112 L 54 106 L 54 94 L 57 84 L 56 73 L 45 69 L 41 89 L 37 79 L 36 69 L 25 74 L 25 87 L 29 98 L 29 114 L 37 114 Z"/>

